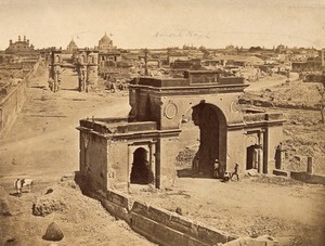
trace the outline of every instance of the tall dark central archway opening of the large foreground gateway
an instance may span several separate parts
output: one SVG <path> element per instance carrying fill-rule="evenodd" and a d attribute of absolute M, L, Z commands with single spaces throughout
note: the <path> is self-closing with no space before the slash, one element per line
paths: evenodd
<path fill-rule="evenodd" d="M 193 107 L 192 119 L 199 127 L 200 141 L 193 160 L 194 173 L 214 177 L 217 172 L 222 178 L 226 165 L 226 120 L 223 113 L 216 105 L 200 103 Z"/>

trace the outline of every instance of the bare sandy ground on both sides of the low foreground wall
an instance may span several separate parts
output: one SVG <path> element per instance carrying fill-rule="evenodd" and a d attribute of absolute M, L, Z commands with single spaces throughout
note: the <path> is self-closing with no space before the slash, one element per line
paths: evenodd
<path fill-rule="evenodd" d="M 50 245 L 42 239 L 55 221 L 65 234 L 58 245 L 152 245 L 127 223 L 109 216 L 99 202 L 82 196 L 61 177 L 78 170 L 78 120 L 82 117 L 126 116 L 128 96 L 79 93 L 76 76 L 65 70 L 62 90 L 47 90 L 47 73 L 34 79 L 22 114 L 0 141 L 0 196 L 12 216 L 0 217 L 0 242 Z M 32 178 L 31 193 L 14 193 L 16 178 Z M 46 217 L 31 213 L 32 203 L 49 189 L 62 206 Z M 235 235 L 270 234 L 281 245 L 325 245 L 325 189 L 276 177 L 239 182 L 180 178 L 171 189 L 132 185 L 134 197 Z M 49 194 L 51 195 L 51 194 Z"/>

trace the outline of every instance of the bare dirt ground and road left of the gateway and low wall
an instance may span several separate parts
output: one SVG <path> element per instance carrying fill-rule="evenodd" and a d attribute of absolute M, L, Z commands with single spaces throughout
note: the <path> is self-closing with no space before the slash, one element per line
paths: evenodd
<path fill-rule="evenodd" d="M 60 245 L 153 245 L 99 202 L 74 185 L 60 183 L 61 177 L 78 170 L 78 120 L 125 115 L 128 96 L 79 93 L 72 70 L 63 73 L 62 90 L 53 94 L 47 89 L 47 78 L 48 73 L 39 73 L 32 79 L 21 115 L 0 141 L 0 197 L 13 213 L 0 216 L 0 245 L 6 241 L 8 245 L 50 245 L 42 236 L 52 221 L 65 234 Z M 15 196 L 16 178 L 32 178 L 31 193 Z M 46 217 L 34 216 L 32 204 L 49 189 L 58 192 L 56 198 L 64 206 Z"/>

